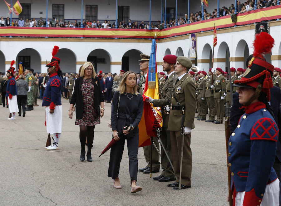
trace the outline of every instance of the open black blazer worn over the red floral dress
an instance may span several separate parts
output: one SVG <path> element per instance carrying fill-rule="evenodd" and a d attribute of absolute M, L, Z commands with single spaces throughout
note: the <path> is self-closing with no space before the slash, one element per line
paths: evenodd
<path fill-rule="evenodd" d="M 71 101 L 70 101 L 70 104 L 73 104 L 76 107 L 76 119 L 78 119 L 78 120 L 82 119 L 83 109 L 84 109 L 83 96 L 82 96 L 82 91 L 81 91 L 82 80 L 83 80 L 82 77 L 75 79 L 73 94 L 72 94 Z M 95 88 L 94 88 L 95 108 L 100 115 L 100 103 L 104 102 L 104 96 L 101 91 L 99 78 L 95 77 L 95 79 L 92 78 L 92 80 L 95 85 Z"/>

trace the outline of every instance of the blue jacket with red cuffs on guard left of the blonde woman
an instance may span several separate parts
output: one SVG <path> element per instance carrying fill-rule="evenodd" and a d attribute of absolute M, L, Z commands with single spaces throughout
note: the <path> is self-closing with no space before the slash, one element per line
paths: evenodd
<path fill-rule="evenodd" d="M 61 102 L 62 84 L 57 73 L 50 75 L 43 94 L 42 106 L 50 106 L 50 109 L 55 109 L 56 105 L 62 105 Z"/>

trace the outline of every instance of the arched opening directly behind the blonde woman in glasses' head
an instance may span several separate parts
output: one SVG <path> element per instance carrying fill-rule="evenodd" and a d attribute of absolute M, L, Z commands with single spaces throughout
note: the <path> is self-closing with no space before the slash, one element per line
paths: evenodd
<path fill-rule="evenodd" d="M 95 49 L 91 51 L 87 57 L 87 61 L 92 62 L 97 73 L 99 73 L 99 71 L 104 73 L 110 72 L 111 57 L 110 54 L 104 49 Z"/>

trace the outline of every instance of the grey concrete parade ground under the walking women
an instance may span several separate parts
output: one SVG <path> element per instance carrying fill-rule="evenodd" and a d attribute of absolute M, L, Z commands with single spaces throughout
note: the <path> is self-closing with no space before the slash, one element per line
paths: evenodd
<path fill-rule="evenodd" d="M 190 189 L 174 190 L 139 172 L 137 185 L 143 190 L 131 194 L 126 144 L 119 175 L 122 189 L 115 189 L 107 177 L 110 151 L 98 158 L 112 137 L 107 126 L 111 105 L 106 103 L 105 116 L 96 125 L 92 162 L 80 161 L 79 126 L 75 115 L 68 118 L 65 99 L 62 108 L 59 148 L 47 151 L 43 107 L 8 121 L 8 108 L 0 106 L 0 205 L 228 205 L 224 125 L 195 119 Z M 138 160 L 139 168 L 146 166 L 142 148 Z"/>

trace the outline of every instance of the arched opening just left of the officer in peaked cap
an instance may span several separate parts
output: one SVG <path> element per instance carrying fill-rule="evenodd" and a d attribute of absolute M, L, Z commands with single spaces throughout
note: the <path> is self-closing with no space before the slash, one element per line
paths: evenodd
<path fill-rule="evenodd" d="M 124 71 L 134 71 L 140 73 L 140 65 L 138 60 L 141 59 L 142 52 L 136 49 L 131 49 L 127 51 L 122 57 L 122 70 Z"/>

